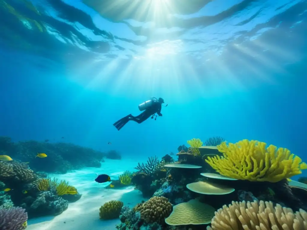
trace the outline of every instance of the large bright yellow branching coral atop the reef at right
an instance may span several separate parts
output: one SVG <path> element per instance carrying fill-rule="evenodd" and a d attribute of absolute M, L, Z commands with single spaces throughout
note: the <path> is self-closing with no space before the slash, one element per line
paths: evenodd
<path fill-rule="evenodd" d="M 205 160 L 223 176 L 239 180 L 278 182 L 301 174 L 307 164 L 286 148 L 276 148 L 255 140 L 241 140 L 236 144 L 226 142 L 217 146 L 223 157 Z"/>

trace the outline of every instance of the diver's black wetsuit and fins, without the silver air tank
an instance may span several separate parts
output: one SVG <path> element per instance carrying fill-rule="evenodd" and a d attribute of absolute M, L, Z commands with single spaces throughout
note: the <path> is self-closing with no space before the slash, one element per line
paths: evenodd
<path fill-rule="evenodd" d="M 113 125 L 115 126 L 115 128 L 117 128 L 117 130 L 120 130 L 122 127 L 124 127 L 124 125 L 127 124 L 128 121 L 135 121 L 138 122 L 138 124 L 141 124 L 143 121 L 147 120 L 150 116 L 152 116 L 155 113 L 157 113 L 159 117 L 162 116 L 161 108 L 162 105 L 160 102 L 153 101 L 153 104 L 144 112 L 142 112 L 140 115 L 134 117 L 131 114 L 129 114 L 128 116 L 123 117 L 122 119 L 116 121 Z"/>

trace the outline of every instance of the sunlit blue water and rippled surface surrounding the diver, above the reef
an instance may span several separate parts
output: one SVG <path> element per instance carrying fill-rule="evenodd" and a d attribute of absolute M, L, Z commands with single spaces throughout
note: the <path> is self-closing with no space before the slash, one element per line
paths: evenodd
<path fill-rule="evenodd" d="M 0 1 L 0 136 L 130 158 L 222 136 L 307 161 L 307 1 L 133 2 Z M 116 130 L 153 96 L 163 117 Z"/>

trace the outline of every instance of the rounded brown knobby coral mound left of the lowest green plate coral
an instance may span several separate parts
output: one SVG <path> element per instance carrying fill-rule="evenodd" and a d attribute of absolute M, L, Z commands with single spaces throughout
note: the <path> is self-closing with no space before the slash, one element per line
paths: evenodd
<path fill-rule="evenodd" d="M 165 197 L 151 197 L 136 208 L 146 223 L 165 223 L 164 219 L 172 212 L 172 204 Z"/>

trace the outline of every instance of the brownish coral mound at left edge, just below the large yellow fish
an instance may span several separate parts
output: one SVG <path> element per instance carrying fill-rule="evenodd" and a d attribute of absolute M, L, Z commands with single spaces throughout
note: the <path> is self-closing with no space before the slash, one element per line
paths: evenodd
<path fill-rule="evenodd" d="M 26 169 L 18 162 L 0 162 L 0 180 L 6 184 L 30 183 L 35 181 L 37 176 L 31 169 Z"/>

